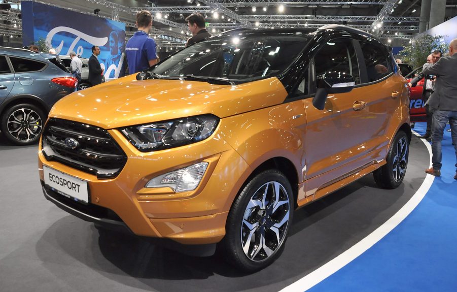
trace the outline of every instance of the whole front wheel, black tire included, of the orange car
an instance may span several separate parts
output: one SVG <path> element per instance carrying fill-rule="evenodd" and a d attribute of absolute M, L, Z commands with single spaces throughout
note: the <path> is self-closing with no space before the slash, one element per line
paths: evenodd
<path fill-rule="evenodd" d="M 220 243 L 227 261 L 250 273 L 273 263 L 284 249 L 293 212 L 294 195 L 284 174 L 267 170 L 256 175 L 230 209 Z"/>

